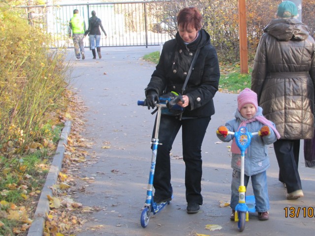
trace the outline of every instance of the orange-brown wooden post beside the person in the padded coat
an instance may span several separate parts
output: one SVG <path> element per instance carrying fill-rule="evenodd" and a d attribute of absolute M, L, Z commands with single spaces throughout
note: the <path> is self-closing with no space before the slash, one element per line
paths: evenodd
<path fill-rule="evenodd" d="M 245 0 L 238 0 L 241 74 L 248 73 L 248 48 Z"/>

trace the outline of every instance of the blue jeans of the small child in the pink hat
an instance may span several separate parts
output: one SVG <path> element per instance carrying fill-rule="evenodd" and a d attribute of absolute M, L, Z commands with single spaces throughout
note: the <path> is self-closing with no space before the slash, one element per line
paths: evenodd
<path fill-rule="evenodd" d="M 247 188 L 249 181 L 249 176 L 244 176 L 244 185 Z M 258 173 L 257 175 L 251 176 L 252 179 L 252 189 L 256 201 L 256 211 L 265 212 L 270 209 L 269 206 L 269 197 L 268 197 L 268 188 L 267 188 L 267 174 L 266 171 Z M 238 187 L 241 184 L 241 172 L 233 170 L 232 174 L 232 183 L 231 183 L 231 203 L 230 207 L 235 209 L 239 201 L 239 192 Z"/>

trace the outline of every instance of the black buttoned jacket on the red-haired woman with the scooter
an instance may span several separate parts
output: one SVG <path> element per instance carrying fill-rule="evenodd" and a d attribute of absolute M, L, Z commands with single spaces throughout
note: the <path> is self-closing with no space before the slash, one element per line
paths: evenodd
<path fill-rule="evenodd" d="M 201 50 L 183 93 L 183 84 L 197 48 Z M 219 79 L 218 56 L 210 43 L 210 35 L 201 29 L 197 39 L 187 45 L 177 32 L 175 39 L 163 45 L 146 91 L 154 89 L 160 95 L 169 91 L 185 94 L 189 97 L 189 106 L 183 117 L 208 117 L 215 113 L 213 97 L 218 90 Z"/>

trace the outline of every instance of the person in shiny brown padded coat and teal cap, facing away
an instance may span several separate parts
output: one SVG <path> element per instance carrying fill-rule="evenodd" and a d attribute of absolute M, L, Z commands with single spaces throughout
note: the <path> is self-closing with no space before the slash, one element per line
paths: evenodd
<path fill-rule="evenodd" d="M 300 140 L 314 136 L 315 41 L 296 16 L 292 1 L 279 4 L 277 19 L 260 39 L 251 87 L 263 115 L 281 135 L 274 149 L 289 200 L 304 196 L 298 172 Z"/>

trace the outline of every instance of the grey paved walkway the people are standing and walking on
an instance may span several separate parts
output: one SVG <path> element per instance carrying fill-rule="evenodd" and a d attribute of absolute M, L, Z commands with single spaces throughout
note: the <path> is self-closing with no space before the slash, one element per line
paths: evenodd
<path fill-rule="evenodd" d="M 285 199 L 284 186 L 278 181 L 278 164 L 270 146 L 271 167 L 267 172 L 270 220 L 261 222 L 256 214 L 251 214 L 245 230 L 240 233 L 237 224 L 229 220 L 230 208 L 220 207 L 220 201 L 227 202 L 230 198 L 232 170 L 227 148 L 230 144 L 218 143 L 215 131 L 233 118 L 237 103 L 236 94 L 221 92 L 215 96 L 216 114 L 209 124 L 202 147 L 204 204 L 201 211 L 197 214 L 186 212 L 185 169 L 179 134 L 171 160 L 175 198 L 169 206 L 151 216 L 147 228 L 140 226 L 155 117 L 147 108 L 136 104 L 137 100 L 144 99 L 144 88 L 155 69 L 155 64 L 140 58 L 154 51 L 159 51 L 159 47 L 102 48 L 102 59 L 92 59 L 92 52 L 87 50 L 85 60 L 73 61 L 72 89 L 88 107 L 86 131 L 82 135 L 94 143 L 89 149 L 93 155 L 88 164 L 79 167 L 78 176 L 95 177 L 93 182 L 78 179 L 78 184 L 87 186 L 85 192 L 78 192 L 75 198 L 84 206 L 102 209 L 86 216 L 87 222 L 78 236 L 313 235 L 315 170 L 305 168 L 303 150 L 299 171 L 304 198 L 296 201 Z M 74 54 L 72 56 L 74 59 Z M 110 148 L 104 149 L 103 146 Z M 248 194 L 252 194 L 251 185 Z M 290 207 L 295 211 L 300 209 L 298 217 L 285 210 Z M 205 229 L 208 224 L 220 225 L 222 229 L 210 232 Z M 92 228 L 98 230 L 91 231 Z"/>

